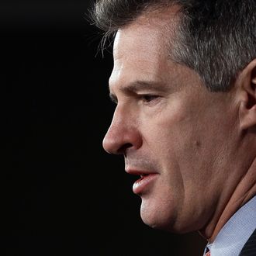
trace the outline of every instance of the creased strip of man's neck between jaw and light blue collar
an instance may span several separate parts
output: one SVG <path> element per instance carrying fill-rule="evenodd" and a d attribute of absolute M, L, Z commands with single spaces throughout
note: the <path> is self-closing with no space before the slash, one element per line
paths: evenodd
<path fill-rule="evenodd" d="M 219 234 L 227 221 L 230 220 L 231 216 L 253 198 L 254 195 L 256 195 L 256 158 L 254 158 L 250 168 L 248 168 L 242 178 L 240 178 L 233 193 L 231 193 L 230 199 L 221 207 L 222 210 L 219 212 L 216 211 L 216 213 L 218 213 L 217 216 L 213 216 L 206 227 L 199 230 L 199 234 L 205 237 L 209 243 L 213 243 L 217 234 Z"/>

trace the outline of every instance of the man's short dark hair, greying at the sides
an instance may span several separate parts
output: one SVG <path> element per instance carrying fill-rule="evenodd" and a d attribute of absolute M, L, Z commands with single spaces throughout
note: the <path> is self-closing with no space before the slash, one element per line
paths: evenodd
<path fill-rule="evenodd" d="M 256 0 L 99 0 L 93 19 L 106 40 L 140 14 L 168 5 L 180 6 L 171 58 L 195 70 L 209 90 L 228 91 L 256 57 Z"/>

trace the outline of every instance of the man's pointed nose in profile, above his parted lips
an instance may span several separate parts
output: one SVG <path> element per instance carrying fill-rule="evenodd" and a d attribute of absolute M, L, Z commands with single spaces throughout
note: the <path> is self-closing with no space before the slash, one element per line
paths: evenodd
<path fill-rule="evenodd" d="M 116 107 L 109 130 L 103 139 L 103 148 L 109 154 L 126 154 L 128 148 L 138 149 L 142 145 L 137 121 L 129 111 Z"/>

